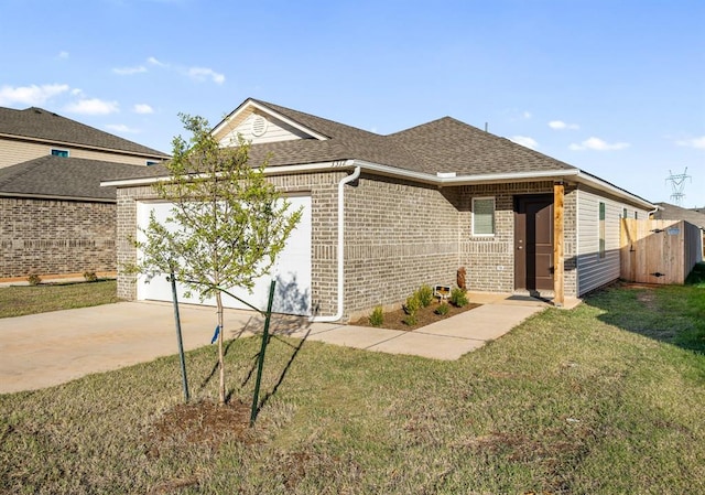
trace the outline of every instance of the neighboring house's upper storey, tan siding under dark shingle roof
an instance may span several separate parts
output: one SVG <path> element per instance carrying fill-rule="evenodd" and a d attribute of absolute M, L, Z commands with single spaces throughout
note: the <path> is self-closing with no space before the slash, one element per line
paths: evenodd
<path fill-rule="evenodd" d="M 0 107 L 0 169 L 53 154 L 149 165 L 167 154 L 59 115 L 31 107 Z"/>

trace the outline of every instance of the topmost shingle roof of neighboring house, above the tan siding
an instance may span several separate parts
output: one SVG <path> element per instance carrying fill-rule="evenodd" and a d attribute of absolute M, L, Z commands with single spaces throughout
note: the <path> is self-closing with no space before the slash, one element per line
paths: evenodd
<path fill-rule="evenodd" d="M 147 157 L 169 158 L 166 153 L 161 151 L 36 107 L 24 110 L 0 107 L 0 134 L 41 139 L 57 144 L 78 144 Z"/>

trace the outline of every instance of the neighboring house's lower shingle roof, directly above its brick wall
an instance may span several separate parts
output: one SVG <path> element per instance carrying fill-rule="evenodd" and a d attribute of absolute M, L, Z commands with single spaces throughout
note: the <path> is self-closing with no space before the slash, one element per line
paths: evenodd
<path fill-rule="evenodd" d="M 46 155 L 0 169 L 0 195 L 115 200 L 100 181 L 131 177 L 142 165 Z"/>

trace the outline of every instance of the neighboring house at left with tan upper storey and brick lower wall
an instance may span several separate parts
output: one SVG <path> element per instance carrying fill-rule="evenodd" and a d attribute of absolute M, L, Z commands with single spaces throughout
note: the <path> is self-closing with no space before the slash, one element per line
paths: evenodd
<path fill-rule="evenodd" d="M 0 107 L 0 280 L 116 267 L 116 190 L 169 155 L 41 108 Z"/>

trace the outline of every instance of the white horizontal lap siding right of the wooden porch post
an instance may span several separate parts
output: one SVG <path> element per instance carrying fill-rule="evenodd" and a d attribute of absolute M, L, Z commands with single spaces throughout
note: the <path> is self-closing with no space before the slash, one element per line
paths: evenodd
<path fill-rule="evenodd" d="M 577 191 L 577 276 L 578 297 L 619 278 L 619 237 L 623 215 L 647 218 L 646 209 L 614 201 L 588 191 Z M 605 203 L 605 256 L 599 256 L 599 204 Z"/>

